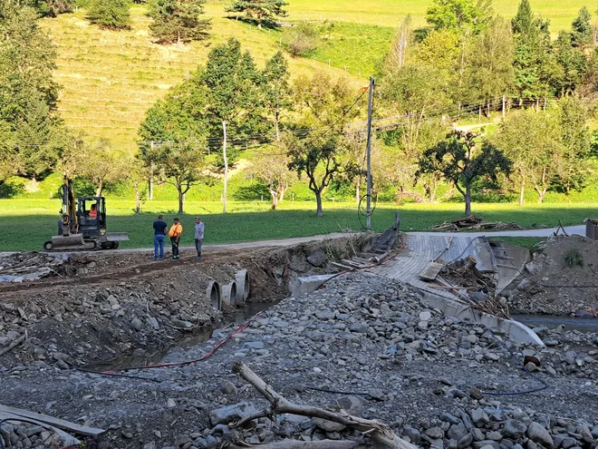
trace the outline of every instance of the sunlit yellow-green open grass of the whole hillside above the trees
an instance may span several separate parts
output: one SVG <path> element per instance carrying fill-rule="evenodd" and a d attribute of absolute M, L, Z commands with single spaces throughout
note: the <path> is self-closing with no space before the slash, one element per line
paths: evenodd
<path fill-rule="evenodd" d="M 386 53 L 394 26 L 410 14 L 425 24 L 429 0 L 291 0 L 289 20 L 333 20 L 313 58 L 289 59 L 293 76 L 317 70 L 348 76 L 356 85 Z M 584 0 L 532 0 L 536 13 L 551 19 L 553 32 L 568 28 Z M 500 15 L 515 14 L 518 0 L 496 0 Z M 207 4 L 212 37 L 205 43 L 162 46 L 149 40 L 145 7 L 134 6 L 130 31 L 102 31 L 88 24 L 83 11 L 43 19 L 58 45 L 56 79 L 63 85 L 59 109 L 68 125 L 91 138 L 106 138 L 115 148 L 135 151 L 137 129 L 149 106 L 170 86 L 204 63 L 212 45 L 234 36 L 263 64 L 280 47 L 281 32 L 260 30 L 227 17 L 221 2 Z M 593 7 L 590 7 L 593 9 Z M 346 70 L 346 71 L 345 71 Z"/>

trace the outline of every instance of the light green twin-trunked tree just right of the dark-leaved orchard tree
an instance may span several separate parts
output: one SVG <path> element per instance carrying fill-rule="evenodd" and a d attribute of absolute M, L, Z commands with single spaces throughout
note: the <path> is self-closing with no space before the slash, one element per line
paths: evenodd
<path fill-rule="evenodd" d="M 538 203 L 541 203 L 561 165 L 563 147 L 555 114 L 532 110 L 513 112 L 491 142 L 513 161 L 519 204 L 524 204 L 528 182 L 534 186 Z"/>

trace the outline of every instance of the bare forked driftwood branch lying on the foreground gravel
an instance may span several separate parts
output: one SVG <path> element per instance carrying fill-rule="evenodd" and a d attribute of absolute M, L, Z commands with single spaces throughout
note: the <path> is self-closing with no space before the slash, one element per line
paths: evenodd
<path fill-rule="evenodd" d="M 377 448 L 417 449 L 417 446 L 402 440 L 391 431 L 391 428 L 388 425 L 379 421 L 364 419 L 343 412 L 334 413 L 312 405 L 298 405 L 289 402 L 284 396 L 276 393 L 272 386 L 267 385 L 260 376 L 257 376 L 256 373 L 243 362 L 236 362 L 233 365 L 233 373 L 243 377 L 271 404 L 269 409 L 246 416 L 238 421 L 234 427 L 239 427 L 259 417 L 290 413 L 294 415 L 322 418 L 328 421 L 333 421 L 334 423 L 346 425 L 347 427 L 352 427 L 364 434 L 369 434 L 372 442 Z"/>

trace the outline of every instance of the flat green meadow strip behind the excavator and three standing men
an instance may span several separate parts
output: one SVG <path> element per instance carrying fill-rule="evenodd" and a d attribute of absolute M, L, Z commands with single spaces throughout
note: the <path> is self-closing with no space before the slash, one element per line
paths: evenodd
<path fill-rule="evenodd" d="M 0 200 L 0 250 L 41 249 L 45 240 L 56 232 L 58 200 Z M 130 241 L 122 248 L 150 247 L 151 223 L 158 213 L 164 213 L 171 223 L 176 216 L 176 201 L 146 201 L 143 213 L 134 215 L 133 201 L 108 200 L 108 230 L 129 232 Z M 180 217 L 184 232 L 182 244 L 192 245 L 194 217 L 206 223 L 206 243 L 230 243 L 263 239 L 306 237 L 343 229 L 359 230 L 353 203 L 324 203 L 324 216 L 315 217 L 314 202 L 285 201 L 280 210 L 269 210 L 264 202 L 230 201 L 227 214 L 222 214 L 220 202 L 188 201 L 187 214 Z M 426 230 L 430 226 L 463 216 L 462 204 L 379 204 L 372 217 L 372 227 L 381 231 L 391 226 L 394 212 L 401 215 L 401 230 Z M 598 203 L 528 205 L 474 204 L 473 211 L 488 221 L 515 221 L 523 227 L 554 227 L 557 220 L 565 226 L 581 224 L 594 217 Z"/>

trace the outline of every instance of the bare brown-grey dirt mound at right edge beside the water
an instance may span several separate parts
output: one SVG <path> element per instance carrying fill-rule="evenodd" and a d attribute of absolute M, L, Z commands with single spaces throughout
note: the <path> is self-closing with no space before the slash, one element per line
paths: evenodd
<path fill-rule="evenodd" d="M 583 236 L 548 239 L 509 298 L 512 311 L 592 316 L 598 309 L 598 241 Z"/>

